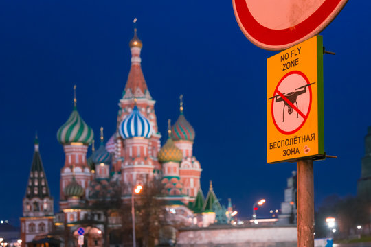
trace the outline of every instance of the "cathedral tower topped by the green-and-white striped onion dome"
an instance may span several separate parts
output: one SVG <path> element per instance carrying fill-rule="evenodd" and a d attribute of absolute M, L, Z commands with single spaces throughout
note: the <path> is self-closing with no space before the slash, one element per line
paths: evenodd
<path fill-rule="evenodd" d="M 82 120 L 76 108 L 74 86 L 74 109 L 57 132 L 57 139 L 65 151 L 65 165 L 60 172 L 60 209 L 68 207 L 65 187 L 72 181 L 73 176 L 82 188 L 86 189 L 89 185 L 91 173 L 87 163 L 87 149 L 93 137 L 93 130 Z"/>

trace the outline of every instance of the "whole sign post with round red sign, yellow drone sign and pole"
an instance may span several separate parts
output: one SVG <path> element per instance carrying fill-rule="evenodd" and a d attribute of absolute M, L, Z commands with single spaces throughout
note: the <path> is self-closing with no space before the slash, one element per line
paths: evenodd
<path fill-rule="evenodd" d="M 324 159 L 323 45 L 319 34 L 348 0 L 232 0 L 267 59 L 267 163 L 297 161 L 297 246 L 314 246 L 313 160 Z"/>

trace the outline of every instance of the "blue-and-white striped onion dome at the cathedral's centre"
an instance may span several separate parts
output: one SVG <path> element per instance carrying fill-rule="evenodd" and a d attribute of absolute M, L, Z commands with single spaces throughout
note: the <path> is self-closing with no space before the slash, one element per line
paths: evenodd
<path fill-rule="evenodd" d="M 131 114 L 121 122 L 119 131 L 124 139 L 132 137 L 150 138 L 153 128 L 150 121 L 139 112 L 137 106 L 134 106 Z"/>

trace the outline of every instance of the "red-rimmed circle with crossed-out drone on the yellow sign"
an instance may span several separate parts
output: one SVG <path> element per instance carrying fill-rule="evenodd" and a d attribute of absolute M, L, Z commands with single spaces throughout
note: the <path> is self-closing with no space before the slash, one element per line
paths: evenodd
<path fill-rule="evenodd" d="M 312 89 L 302 71 L 291 71 L 278 82 L 273 93 L 272 119 L 282 134 L 294 134 L 308 119 L 312 106 Z"/>

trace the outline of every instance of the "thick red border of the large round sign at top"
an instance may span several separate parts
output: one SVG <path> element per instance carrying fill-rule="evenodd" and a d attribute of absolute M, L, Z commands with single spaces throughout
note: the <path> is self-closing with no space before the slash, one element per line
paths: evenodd
<path fill-rule="evenodd" d="M 319 34 L 335 19 L 347 1 L 325 0 L 304 21 L 293 27 L 280 30 L 265 27 L 256 21 L 247 6 L 246 0 L 232 0 L 232 3 L 238 25 L 251 43 L 262 49 L 279 51 Z"/>

